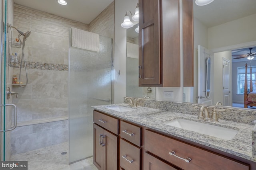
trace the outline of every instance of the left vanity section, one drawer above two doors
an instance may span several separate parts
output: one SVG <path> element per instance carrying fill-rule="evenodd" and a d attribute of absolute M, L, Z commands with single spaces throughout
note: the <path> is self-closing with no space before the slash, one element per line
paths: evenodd
<path fill-rule="evenodd" d="M 93 164 L 98 170 L 118 170 L 119 120 L 93 111 L 93 121 Z"/>

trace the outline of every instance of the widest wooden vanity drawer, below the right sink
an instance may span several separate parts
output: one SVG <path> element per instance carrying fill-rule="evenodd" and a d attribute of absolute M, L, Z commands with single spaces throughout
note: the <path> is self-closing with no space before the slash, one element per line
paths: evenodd
<path fill-rule="evenodd" d="M 194 147 L 182 141 L 146 130 L 145 149 L 184 170 L 249 170 L 248 164 Z M 176 156 L 170 155 L 174 151 Z"/>

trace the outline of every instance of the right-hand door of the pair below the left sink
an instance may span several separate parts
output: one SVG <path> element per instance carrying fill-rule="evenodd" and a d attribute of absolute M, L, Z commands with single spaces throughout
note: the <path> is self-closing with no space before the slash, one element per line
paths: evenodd
<path fill-rule="evenodd" d="M 104 130 L 104 170 L 118 170 L 118 136 Z"/>

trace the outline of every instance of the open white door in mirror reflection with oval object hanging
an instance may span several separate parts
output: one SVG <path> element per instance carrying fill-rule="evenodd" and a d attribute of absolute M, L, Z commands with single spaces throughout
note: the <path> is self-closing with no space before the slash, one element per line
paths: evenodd
<path fill-rule="evenodd" d="M 197 102 L 200 104 L 211 105 L 213 96 L 206 98 L 206 61 L 210 57 L 210 51 L 198 45 L 198 96 Z M 212 74 L 212 73 L 211 73 Z M 212 77 L 212 76 L 211 76 Z M 212 81 L 210 80 L 210 83 Z"/>

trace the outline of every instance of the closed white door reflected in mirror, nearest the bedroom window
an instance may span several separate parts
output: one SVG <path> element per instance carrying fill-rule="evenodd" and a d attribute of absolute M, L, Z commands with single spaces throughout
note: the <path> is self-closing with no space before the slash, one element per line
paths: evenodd
<path fill-rule="evenodd" d="M 222 58 L 223 106 L 231 106 L 230 99 L 230 61 Z"/>

